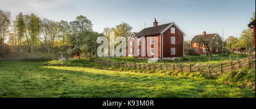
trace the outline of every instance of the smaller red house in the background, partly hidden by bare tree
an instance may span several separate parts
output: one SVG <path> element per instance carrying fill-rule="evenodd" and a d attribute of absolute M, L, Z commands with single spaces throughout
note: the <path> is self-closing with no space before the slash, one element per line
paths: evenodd
<path fill-rule="evenodd" d="M 204 38 L 204 40 L 207 41 L 207 40 L 212 40 L 215 36 L 220 37 L 220 35 L 218 35 L 218 33 L 206 34 L 206 32 L 203 32 L 203 34 L 193 37 L 193 39 L 191 40 L 191 47 L 194 49 L 197 49 L 197 51 L 199 51 L 199 53 L 201 53 L 201 54 L 206 54 L 207 51 L 206 51 L 204 45 L 202 43 L 200 43 L 200 38 Z M 220 44 L 221 42 L 216 42 L 216 43 Z M 215 49 L 215 48 L 210 48 L 210 49 L 212 49 L 213 54 L 221 53 L 221 51 L 218 49 Z"/>

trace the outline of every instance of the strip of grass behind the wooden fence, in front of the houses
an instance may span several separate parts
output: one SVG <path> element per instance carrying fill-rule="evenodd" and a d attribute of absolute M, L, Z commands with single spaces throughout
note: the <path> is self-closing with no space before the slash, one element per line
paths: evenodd
<path fill-rule="evenodd" d="M 192 64 L 198 63 L 198 59 L 200 64 L 208 64 L 209 62 L 209 57 L 206 55 L 201 54 L 200 56 L 191 56 L 191 55 L 184 55 L 184 58 L 181 59 L 182 63 L 189 63 L 189 58 L 191 60 Z M 236 54 L 231 54 L 230 58 L 232 60 L 237 60 L 237 55 Z M 239 59 L 247 58 L 247 55 L 239 55 Z M 109 57 L 106 58 L 108 60 L 113 60 L 113 61 L 123 61 L 123 62 L 141 62 L 141 63 L 147 63 L 147 60 L 143 59 L 134 59 L 133 57 Z M 222 55 L 222 54 L 213 54 L 210 56 L 210 64 L 214 63 L 220 63 L 222 62 L 227 62 L 229 61 L 229 55 Z M 179 60 L 175 59 L 176 63 L 179 63 Z M 158 61 L 158 63 L 174 63 L 174 60 L 165 60 L 165 61 Z"/>

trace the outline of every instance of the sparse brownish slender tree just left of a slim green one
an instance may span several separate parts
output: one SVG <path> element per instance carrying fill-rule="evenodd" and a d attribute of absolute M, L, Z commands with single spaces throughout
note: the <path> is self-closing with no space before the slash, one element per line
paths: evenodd
<path fill-rule="evenodd" d="M 54 40 L 59 32 L 59 24 L 57 21 L 50 21 L 49 22 L 49 35 L 51 36 L 51 46 L 54 46 Z"/>

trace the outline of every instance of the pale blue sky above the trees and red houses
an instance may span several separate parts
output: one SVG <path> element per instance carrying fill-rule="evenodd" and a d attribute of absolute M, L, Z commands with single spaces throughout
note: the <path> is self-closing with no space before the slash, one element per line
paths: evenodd
<path fill-rule="evenodd" d="M 15 18 L 19 12 L 34 13 L 50 20 L 75 20 L 84 15 L 93 23 L 93 30 L 129 23 L 132 32 L 152 27 L 154 18 L 159 25 L 175 22 L 185 33 L 185 40 L 201 34 L 219 33 L 224 37 L 240 37 L 255 11 L 255 0 L 0 0 L 0 10 L 9 10 Z"/>

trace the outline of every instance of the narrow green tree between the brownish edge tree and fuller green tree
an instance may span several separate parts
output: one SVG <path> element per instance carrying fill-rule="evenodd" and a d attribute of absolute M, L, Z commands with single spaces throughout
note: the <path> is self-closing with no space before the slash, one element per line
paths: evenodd
<path fill-rule="evenodd" d="M 16 27 L 18 30 L 18 44 L 21 45 L 21 41 L 24 36 L 24 32 L 25 32 L 25 28 L 26 28 L 26 23 L 24 20 L 24 16 L 22 15 L 22 12 L 19 13 L 19 15 L 17 16 L 16 19 L 17 19 Z"/>

